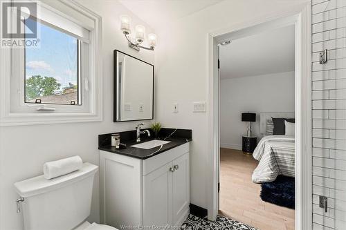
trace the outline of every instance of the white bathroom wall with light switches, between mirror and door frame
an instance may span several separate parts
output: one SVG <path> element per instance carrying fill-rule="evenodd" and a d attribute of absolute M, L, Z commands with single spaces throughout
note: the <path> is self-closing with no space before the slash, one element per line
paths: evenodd
<path fill-rule="evenodd" d="M 192 113 L 192 102 L 207 100 L 208 32 L 267 14 L 286 12 L 290 6 L 307 0 L 228 0 L 183 17 L 158 33 L 156 48 L 156 119 L 165 126 L 192 128 L 190 159 L 191 202 L 207 207 L 209 171 L 207 151 L 207 113 Z M 179 113 L 172 113 L 172 103 L 179 103 Z M 207 109 L 208 106 L 207 106 Z"/>

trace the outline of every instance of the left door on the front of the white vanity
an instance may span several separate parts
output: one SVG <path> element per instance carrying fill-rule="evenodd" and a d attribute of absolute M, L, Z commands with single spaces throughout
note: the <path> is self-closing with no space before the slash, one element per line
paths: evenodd
<path fill-rule="evenodd" d="M 143 225 L 172 225 L 172 162 L 143 176 Z"/>

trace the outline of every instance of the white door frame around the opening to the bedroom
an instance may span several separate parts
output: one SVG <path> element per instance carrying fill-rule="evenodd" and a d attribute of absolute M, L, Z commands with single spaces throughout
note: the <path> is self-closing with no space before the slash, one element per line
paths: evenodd
<path fill-rule="evenodd" d="M 311 2 L 208 33 L 208 219 L 219 211 L 219 77 L 217 45 L 262 30 L 295 25 L 295 229 L 312 228 Z M 304 153 L 304 154 L 303 154 Z"/>

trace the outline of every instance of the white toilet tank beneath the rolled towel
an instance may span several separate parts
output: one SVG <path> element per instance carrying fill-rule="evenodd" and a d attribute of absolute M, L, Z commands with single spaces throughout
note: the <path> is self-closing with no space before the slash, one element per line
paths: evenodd
<path fill-rule="evenodd" d="M 21 202 L 25 230 L 71 230 L 90 215 L 93 178 L 98 166 L 51 180 L 43 175 L 15 183 Z"/>

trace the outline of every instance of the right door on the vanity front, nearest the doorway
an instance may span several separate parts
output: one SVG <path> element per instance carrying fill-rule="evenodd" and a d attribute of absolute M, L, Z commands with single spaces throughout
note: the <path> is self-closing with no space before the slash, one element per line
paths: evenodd
<path fill-rule="evenodd" d="M 186 218 L 190 204 L 190 154 L 173 161 L 173 221 L 180 225 Z"/>

